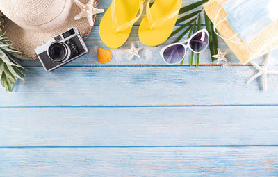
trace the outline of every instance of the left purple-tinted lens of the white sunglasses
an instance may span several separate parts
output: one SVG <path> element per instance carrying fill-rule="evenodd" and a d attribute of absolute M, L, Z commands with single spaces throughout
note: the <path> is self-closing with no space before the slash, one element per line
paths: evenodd
<path fill-rule="evenodd" d="M 185 53 L 186 49 L 184 49 L 183 45 L 176 44 L 165 49 L 163 56 L 165 62 L 168 64 L 174 64 L 180 62 L 183 59 Z"/>

